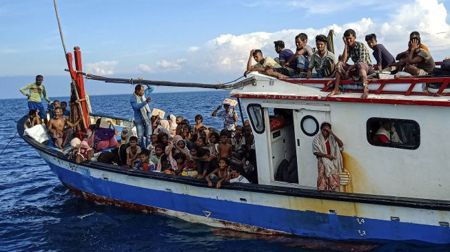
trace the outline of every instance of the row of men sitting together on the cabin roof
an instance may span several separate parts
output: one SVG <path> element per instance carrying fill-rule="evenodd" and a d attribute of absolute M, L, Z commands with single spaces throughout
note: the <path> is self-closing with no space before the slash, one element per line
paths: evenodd
<path fill-rule="evenodd" d="M 261 50 L 251 50 L 244 75 L 247 76 L 249 72 L 258 71 L 276 78 L 336 78 L 334 90 L 329 96 L 340 94 L 341 79 L 351 79 L 364 85 L 361 98 L 367 98 L 369 95 L 367 80 L 368 76 L 374 74 L 374 70 L 426 76 L 431 74 L 436 67 L 427 46 L 420 40 L 419 32 L 411 32 L 408 49 L 400 52 L 395 59 L 384 45 L 378 43 L 376 34 L 367 34 L 365 41 L 373 50 L 376 65 L 372 65 L 366 45 L 356 41 L 354 30 L 346 30 L 342 40 L 344 51 L 339 59 L 327 50 L 329 41 L 323 34 L 316 36 L 315 52 L 307 45 L 308 36 L 305 33 L 300 33 L 295 37 L 295 53 L 285 48 L 283 41 L 275 41 L 278 58 L 264 57 Z M 353 65 L 347 63 L 349 59 L 353 61 Z M 252 60 L 256 61 L 255 65 L 252 65 Z"/>

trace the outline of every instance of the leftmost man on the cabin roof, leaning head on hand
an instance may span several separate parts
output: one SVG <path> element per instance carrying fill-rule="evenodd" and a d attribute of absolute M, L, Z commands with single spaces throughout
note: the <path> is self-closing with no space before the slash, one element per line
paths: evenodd
<path fill-rule="evenodd" d="M 252 59 L 257 63 L 252 65 Z M 289 71 L 282 67 L 280 64 L 276 63 L 274 59 L 270 56 L 264 58 L 263 52 L 261 50 L 251 50 L 249 60 L 247 62 L 247 70 L 244 72 L 244 76 L 247 76 L 249 72 L 258 71 L 261 74 L 266 74 L 268 76 L 276 78 L 287 78 Z"/>

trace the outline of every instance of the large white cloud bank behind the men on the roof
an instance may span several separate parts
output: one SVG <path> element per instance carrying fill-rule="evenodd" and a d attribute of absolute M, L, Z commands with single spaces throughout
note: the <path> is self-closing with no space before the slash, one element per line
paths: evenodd
<path fill-rule="evenodd" d="M 331 4 L 331 1 L 325 2 Z M 350 1 L 356 2 L 359 3 Z M 297 4 L 292 1 L 290 3 Z M 303 1 L 302 3 L 305 6 Z M 333 3 L 331 6 L 336 4 Z M 198 50 L 199 53 L 189 58 L 189 64 L 186 64 L 185 68 L 202 72 L 208 70 L 227 74 L 241 73 L 247 65 L 250 50 L 261 49 L 265 56 L 278 56 L 274 50 L 274 41 L 277 40 L 285 41 L 287 48 L 295 50 L 294 37 L 300 32 L 305 32 L 309 36 L 308 44 L 315 47 L 314 37 L 317 34 L 328 34 L 329 29 L 333 29 L 336 34 L 334 38 L 336 54 L 342 54 L 341 38 L 343 32 L 349 28 L 356 30 L 357 40 L 363 43 L 366 34 L 377 34 L 378 43 L 385 45 L 393 56 L 407 49 L 409 33 L 417 30 L 422 37 L 422 43 L 430 48 L 434 59 L 442 61 L 445 56 L 450 56 L 447 52 L 450 49 L 450 27 L 446 20 L 447 10 L 438 0 L 416 0 L 394 9 L 384 23 L 375 23 L 370 18 L 363 18 L 353 23 L 332 24 L 319 29 L 223 34 L 202 45 Z M 438 32 L 446 33 L 438 34 Z"/>

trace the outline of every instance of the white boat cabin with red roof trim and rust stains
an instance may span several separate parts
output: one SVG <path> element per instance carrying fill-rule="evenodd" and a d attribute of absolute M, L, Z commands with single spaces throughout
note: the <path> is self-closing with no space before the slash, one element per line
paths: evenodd
<path fill-rule="evenodd" d="M 391 79 L 369 83 L 381 92 L 366 99 L 354 89 L 327 97 L 327 80 L 252 74 L 254 83 L 231 96 L 241 100 L 254 130 L 259 184 L 316 189 L 312 142 L 328 122 L 344 143 L 342 192 L 448 200 L 450 144 L 440 129 L 450 123 L 449 96 L 424 92 L 420 79 Z M 395 132 L 389 143 L 375 137 L 381 125 Z"/>

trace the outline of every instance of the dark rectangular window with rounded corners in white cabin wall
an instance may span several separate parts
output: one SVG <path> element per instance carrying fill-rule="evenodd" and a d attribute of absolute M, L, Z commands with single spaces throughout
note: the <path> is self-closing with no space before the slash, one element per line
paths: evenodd
<path fill-rule="evenodd" d="M 417 149 L 420 145 L 420 126 L 414 120 L 369 118 L 367 140 L 374 146 Z"/>

